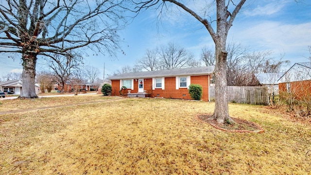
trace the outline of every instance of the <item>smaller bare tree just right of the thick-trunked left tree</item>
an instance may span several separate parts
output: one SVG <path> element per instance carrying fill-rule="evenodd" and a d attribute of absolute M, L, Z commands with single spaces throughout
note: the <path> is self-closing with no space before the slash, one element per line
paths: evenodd
<path fill-rule="evenodd" d="M 48 63 L 48 67 L 52 70 L 55 81 L 61 86 L 61 93 L 64 93 L 65 83 L 69 80 L 74 69 L 78 69 L 82 57 L 63 56 L 55 54 L 53 59 Z"/>

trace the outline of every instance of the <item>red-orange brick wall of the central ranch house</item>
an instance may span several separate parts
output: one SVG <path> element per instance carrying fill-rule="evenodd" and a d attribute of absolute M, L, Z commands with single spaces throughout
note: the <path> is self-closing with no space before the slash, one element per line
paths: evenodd
<path fill-rule="evenodd" d="M 208 101 L 208 75 L 191 76 L 191 84 L 199 84 L 203 88 L 202 100 Z M 151 97 L 163 97 L 163 98 L 173 98 L 173 99 L 191 99 L 188 92 L 188 88 L 176 89 L 176 77 L 165 77 L 164 90 L 162 88 L 155 88 L 152 90 L 152 78 L 144 79 L 144 90 L 151 94 Z M 112 95 L 120 95 L 120 80 L 112 80 Z M 117 93 L 114 93 L 117 91 Z M 134 90 L 131 93 L 138 92 L 138 81 L 134 79 Z"/>

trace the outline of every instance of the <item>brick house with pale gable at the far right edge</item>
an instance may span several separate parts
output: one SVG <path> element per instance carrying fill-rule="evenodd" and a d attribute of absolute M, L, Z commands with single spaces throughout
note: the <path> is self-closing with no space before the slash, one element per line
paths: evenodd
<path fill-rule="evenodd" d="M 280 92 L 291 92 L 297 97 L 310 96 L 311 62 L 295 63 L 279 81 Z"/>

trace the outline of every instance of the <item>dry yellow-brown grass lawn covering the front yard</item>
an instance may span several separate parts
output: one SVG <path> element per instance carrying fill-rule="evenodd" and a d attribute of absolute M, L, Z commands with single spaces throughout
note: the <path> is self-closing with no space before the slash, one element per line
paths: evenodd
<path fill-rule="evenodd" d="M 28 108 L 70 97 L 57 98 L 16 102 Z M 2 101 L 0 111 L 9 104 Z M 229 104 L 232 117 L 265 129 L 229 133 L 196 120 L 213 109 L 207 102 L 127 98 L 0 115 L 0 174 L 311 174 L 310 124 L 264 106 Z"/>

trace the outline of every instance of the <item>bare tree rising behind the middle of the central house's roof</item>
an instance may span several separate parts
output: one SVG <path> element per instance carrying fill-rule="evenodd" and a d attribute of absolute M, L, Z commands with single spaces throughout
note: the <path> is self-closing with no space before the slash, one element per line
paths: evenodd
<path fill-rule="evenodd" d="M 188 67 L 188 64 L 194 59 L 192 53 L 175 43 L 169 43 L 160 49 L 160 70 L 172 70 Z"/>

